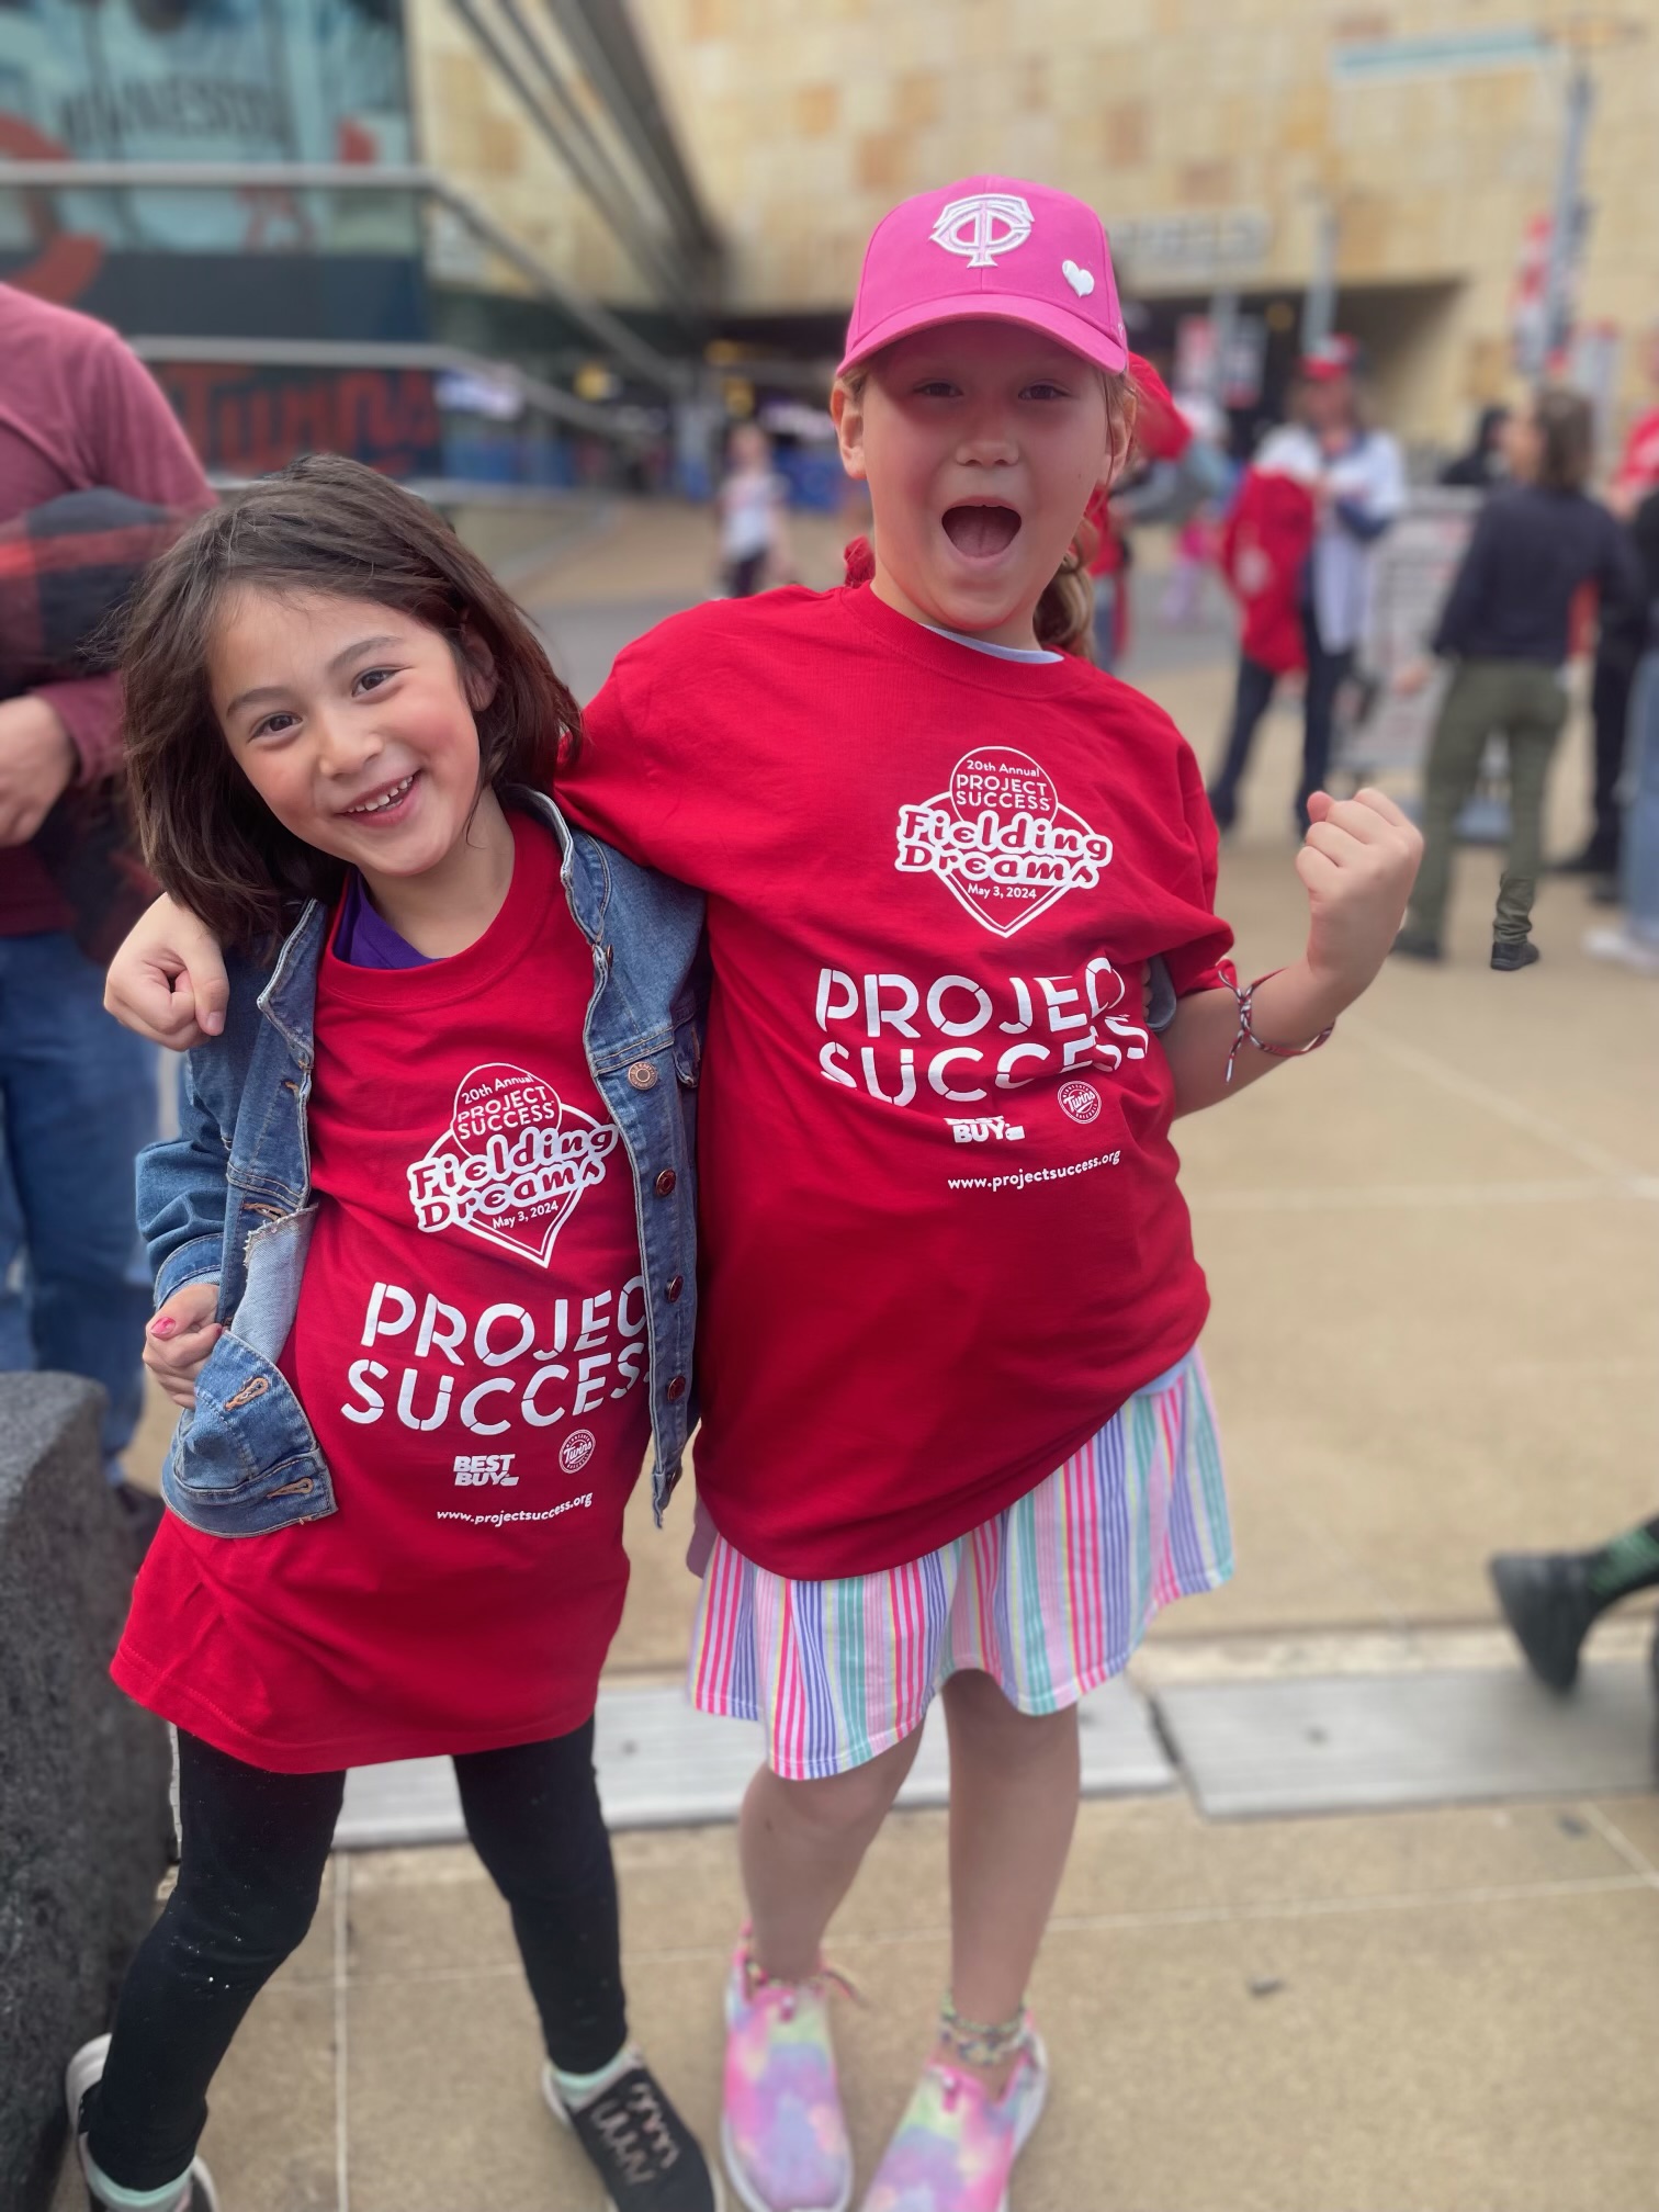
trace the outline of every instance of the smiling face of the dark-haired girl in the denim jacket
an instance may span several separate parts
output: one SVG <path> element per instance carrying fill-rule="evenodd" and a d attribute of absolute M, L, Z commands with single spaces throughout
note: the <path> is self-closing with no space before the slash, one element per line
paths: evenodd
<path fill-rule="evenodd" d="M 276 821 L 376 878 L 427 876 L 478 805 L 491 679 L 376 599 L 239 591 L 208 655 L 215 714 Z"/>

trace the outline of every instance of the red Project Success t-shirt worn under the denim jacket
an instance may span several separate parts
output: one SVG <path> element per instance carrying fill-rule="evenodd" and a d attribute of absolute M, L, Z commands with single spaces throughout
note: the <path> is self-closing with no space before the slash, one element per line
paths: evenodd
<path fill-rule="evenodd" d="M 316 1228 L 283 1371 L 338 1511 L 168 1515 L 115 1679 L 252 1765 L 535 1743 L 593 1712 L 650 1433 L 633 1181 L 549 830 L 465 953 L 316 987 Z"/>

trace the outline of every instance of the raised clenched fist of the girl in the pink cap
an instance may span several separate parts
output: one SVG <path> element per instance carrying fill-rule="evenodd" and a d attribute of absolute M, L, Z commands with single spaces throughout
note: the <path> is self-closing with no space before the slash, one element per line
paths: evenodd
<path fill-rule="evenodd" d="M 1422 836 L 1383 792 L 1314 792 L 1296 874 L 1312 909 L 1307 969 L 1332 1015 L 1383 967 L 1418 880 Z"/>

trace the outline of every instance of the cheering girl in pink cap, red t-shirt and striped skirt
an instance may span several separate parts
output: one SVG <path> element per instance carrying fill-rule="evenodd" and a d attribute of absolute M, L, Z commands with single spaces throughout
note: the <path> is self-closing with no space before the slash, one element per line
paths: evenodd
<path fill-rule="evenodd" d="M 874 557 L 639 639 L 560 779 L 708 896 L 690 1688 L 765 1728 L 726 1995 L 750 2212 L 852 2203 L 821 1942 L 936 1694 L 951 1986 L 863 2203 L 1006 2205 L 1077 1701 L 1232 1566 L 1170 1124 L 1329 1035 L 1416 872 L 1387 799 L 1316 794 L 1307 947 L 1237 984 L 1192 752 L 1057 650 L 1088 628 L 1073 538 L 1130 442 L 1126 363 L 1077 199 L 905 201 L 834 389 Z M 166 916 L 113 978 L 157 1029 L 146 967 L 201 998 L 184 942 Z"/>

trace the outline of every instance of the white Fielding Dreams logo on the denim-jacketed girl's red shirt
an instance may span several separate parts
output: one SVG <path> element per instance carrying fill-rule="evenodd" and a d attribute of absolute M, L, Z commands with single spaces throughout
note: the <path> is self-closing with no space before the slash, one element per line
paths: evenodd
<path fill-rule="evenodd" d="M 409 1168 L 409 1201 L 429 1234 L 465 1230 L 546 1267 L 584 1190 L 604 1181 L 619 1130 L 526 1068 L 491 1062 L 462 1075 L 449 1128 Z"/>

